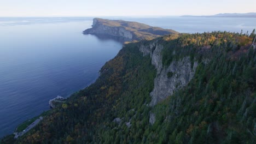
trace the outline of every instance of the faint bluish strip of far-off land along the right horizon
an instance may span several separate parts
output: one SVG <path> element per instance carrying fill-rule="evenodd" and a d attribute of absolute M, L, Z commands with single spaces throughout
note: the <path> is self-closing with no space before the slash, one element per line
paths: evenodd
<path fill-rule="evenodd" d="M 216 14 L 216 15 L 182 15 L 182 17 L 256 17 L 256 13 L 224 13 L 224 14 Z"/>

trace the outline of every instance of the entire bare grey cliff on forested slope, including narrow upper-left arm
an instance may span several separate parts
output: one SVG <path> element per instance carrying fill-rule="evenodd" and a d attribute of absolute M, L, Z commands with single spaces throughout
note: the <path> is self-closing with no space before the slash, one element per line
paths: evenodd
<path fill-rule="evenodd" d="M 156 105 L 159 101 L 166 99 L 174 92 L 186 86 L 193 78 L 198 65 L 197 62 L 192 64 L 189 57 L 184 57 L 180 61 L 173 61 L 170 65 L 163 66 L 161 56 L 162 49 L 164 49 L 164 47 L 159 45 L 157 41 L 139 47 L 139 50 L 143 52 L 143 56 L 150 55 L 152 64 L 157 69 L 154 89 L 150 93 L 152 97 L 150 106 Z"/>

